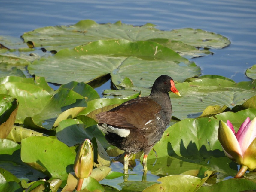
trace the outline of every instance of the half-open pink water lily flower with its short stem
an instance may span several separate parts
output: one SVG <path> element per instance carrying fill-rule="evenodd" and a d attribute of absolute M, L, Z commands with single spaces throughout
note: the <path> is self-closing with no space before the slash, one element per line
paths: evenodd
<path fill-rule="evenodd" d="M 236 161 L 241 168 L 235 178 L 240 178 L 248 170 L 256 169 L 256 117 L 249 117 L 242 123 L 237 133 L 232 123 L 219 121 L 218 139 L 224 153 Z"/>

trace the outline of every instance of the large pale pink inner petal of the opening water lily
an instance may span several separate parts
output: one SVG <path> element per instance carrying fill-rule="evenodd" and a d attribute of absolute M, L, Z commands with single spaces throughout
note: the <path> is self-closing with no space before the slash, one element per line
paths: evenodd
<path fill-rule="evenodd" d="M 241 125 L 240 129 L 236 134 L 236 138 L 241 147 L 242 154 L 244 154 L 251 142 L 256 137 L 256 117 L 252 121 L 250 121 L 250 118 L 248 117 Z"/>

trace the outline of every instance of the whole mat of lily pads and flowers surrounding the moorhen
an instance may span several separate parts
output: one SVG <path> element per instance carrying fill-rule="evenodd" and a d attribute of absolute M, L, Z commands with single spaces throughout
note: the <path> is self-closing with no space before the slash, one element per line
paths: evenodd
<path fill-rule="evenodd" d="M 200 76 L 189 60 L 227 47 L 226 37 L 82 20 L 0 39 L 0 191 L 64 192 L 78 183 L 102 192 L 256 188 L 255 66 L 246 71 L 250 81 L 236 83 Z M 181 94 L 171 95 L 173 119 L 148 154 L 147 177 L 141 153 L 125 175 L 112 158 L 123 151 L 105 140 L 95 115 L 148 95 L 163 74 Z M 238 165 L 242 178 L 230 178 Z"/>

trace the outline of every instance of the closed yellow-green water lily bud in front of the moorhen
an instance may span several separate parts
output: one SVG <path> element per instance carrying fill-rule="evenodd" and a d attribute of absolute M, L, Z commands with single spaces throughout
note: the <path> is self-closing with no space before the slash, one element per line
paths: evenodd
<path fill-rule="evenodd" d="M 87 178 L 93 170 L 93 144 L 85 139 L 79 146 L 74 163 L 75 175 L 78 178 Z"/>

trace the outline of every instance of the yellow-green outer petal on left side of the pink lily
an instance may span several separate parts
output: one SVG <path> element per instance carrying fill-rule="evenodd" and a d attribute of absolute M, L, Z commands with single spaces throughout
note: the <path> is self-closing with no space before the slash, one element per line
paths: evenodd
<path fill-rule="evenodd" d="M 237 163 L 242 164 L 243 155 L 235 134 L 223 121 L 219 121 L 218 139 L 222 148 L 232 156 Z"/>

